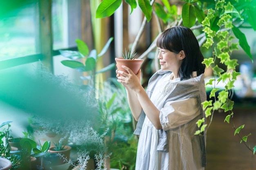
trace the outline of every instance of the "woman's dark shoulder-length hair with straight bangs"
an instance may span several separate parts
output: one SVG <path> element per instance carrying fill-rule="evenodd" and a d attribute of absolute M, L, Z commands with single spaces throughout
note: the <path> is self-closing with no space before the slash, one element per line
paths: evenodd
<path fill-rule="evenodd" d="M 166 29 L 159 35 L 157 47 L 176 54 L 182 50 L 184 51 L 186 57 L 183 59 L 177 73 L 180 80 L 189 79 L 193 75 L 193 71 L 197 71 L 197 75 L 204 73 L 205 64 L 202 64 L 204 56 L 191 29 L 185 26 Z"/>

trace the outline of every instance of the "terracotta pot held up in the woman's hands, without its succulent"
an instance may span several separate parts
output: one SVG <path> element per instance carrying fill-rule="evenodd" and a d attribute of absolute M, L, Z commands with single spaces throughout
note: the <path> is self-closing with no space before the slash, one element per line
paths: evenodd
<path fill-rule="evenodd" d="M 137 59 L 137 58 L 135 58 L 134 60 L 126 60 L 120 57 L 120 58 L 115 58 L 115 60 L 117 63 L 118 70 L 125 71 L 127 73 L 127 71 L 121 67 L 121 66 L 127 66 L 133 71 L 135 75 L 138 74 L 141 64 L 143 62 L 143 60 Z"/>

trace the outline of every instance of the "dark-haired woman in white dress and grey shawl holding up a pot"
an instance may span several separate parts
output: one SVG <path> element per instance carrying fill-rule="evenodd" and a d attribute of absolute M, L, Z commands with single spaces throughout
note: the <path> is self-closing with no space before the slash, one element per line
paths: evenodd
<path fill-rule="evenodd" d="M 117 81 L 127 92 L 132 115 L 138 121 L 136 170 L 204 170 L 206 134 L 194 135 L 204 117 L 206 100 L 204 59 L 191 29 L 175 26 L 157 39 L 161 69 L 147 90 L 135 75 L 117 70 Z M 122 75 L 122 76 L 121 76 Z"/>

